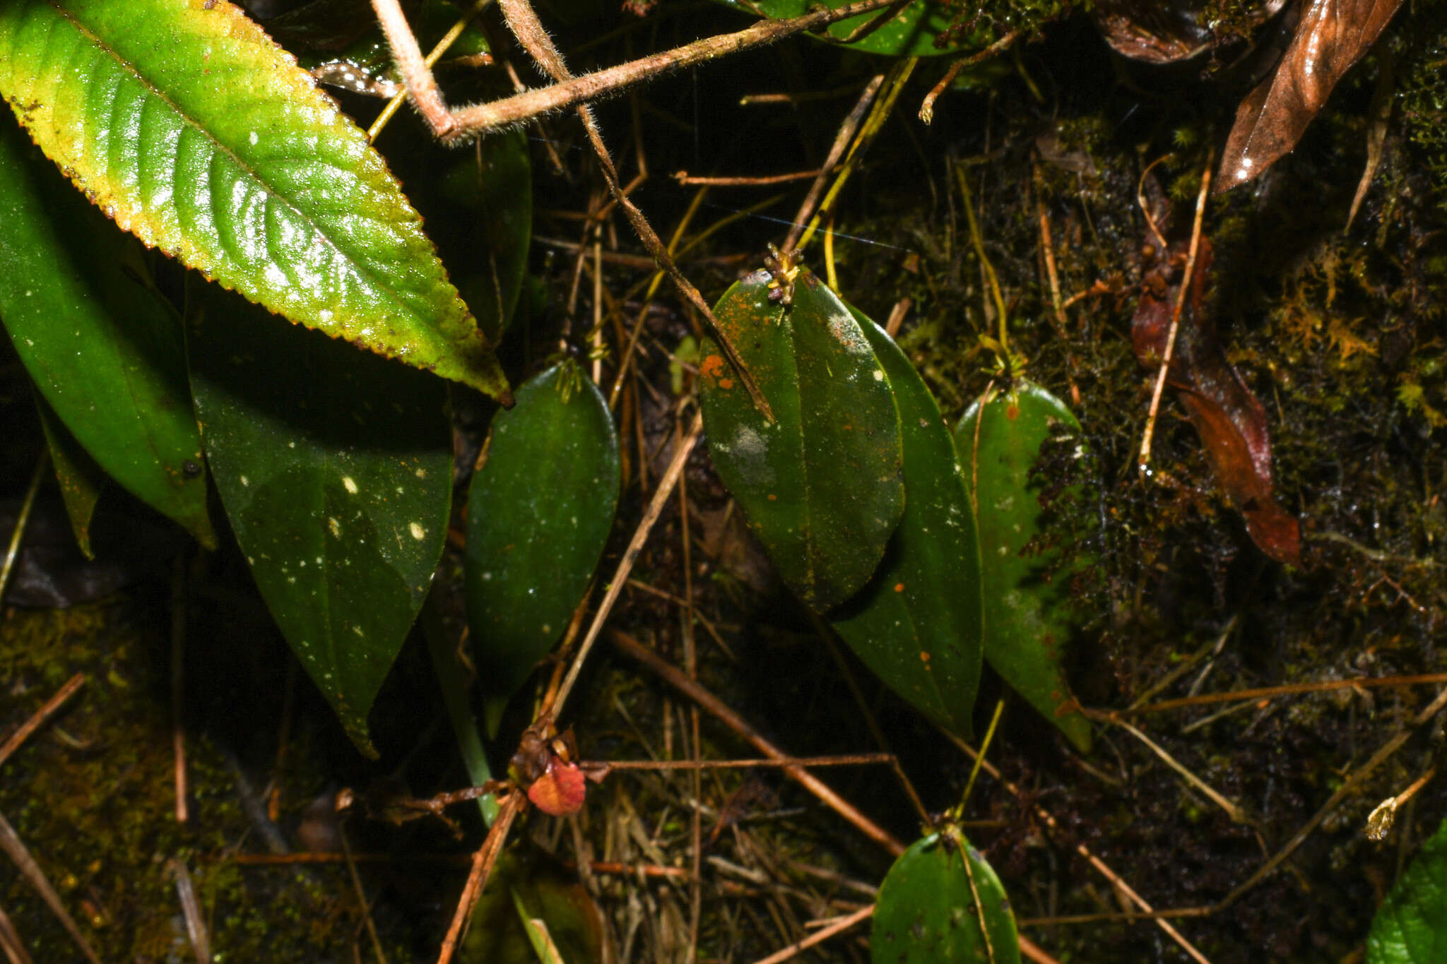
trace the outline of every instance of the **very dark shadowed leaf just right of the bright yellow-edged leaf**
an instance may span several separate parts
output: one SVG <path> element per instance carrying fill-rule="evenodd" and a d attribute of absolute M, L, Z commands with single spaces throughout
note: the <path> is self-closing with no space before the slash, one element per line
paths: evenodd
<path fill-rule="evenodd" d="M 441 179 L 451 212 L 437 238 L 478 325 L 498 341 L 512 321 L 532 244 L 532 163 L 521 130 L 486 140 L 456 160 Z"/>

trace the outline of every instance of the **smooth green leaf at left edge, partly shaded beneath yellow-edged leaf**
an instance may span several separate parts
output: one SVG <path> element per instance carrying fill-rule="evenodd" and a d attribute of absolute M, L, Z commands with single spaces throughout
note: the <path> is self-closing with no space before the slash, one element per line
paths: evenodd
<path fill-rule="evenodd" d="M 140 246 L 0 117 L 0 319 L 16 354 L 111 478 L 216 545 L 181 325 L 146 276 Z"/>

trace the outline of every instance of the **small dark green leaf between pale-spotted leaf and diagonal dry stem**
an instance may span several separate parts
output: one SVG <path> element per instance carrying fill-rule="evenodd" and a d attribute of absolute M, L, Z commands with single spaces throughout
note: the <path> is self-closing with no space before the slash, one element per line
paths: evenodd
<path fill-rule="evenodd" d="M 567 629 L 614 528 L 618 489 L 614 419 L 572 361 L 530 379 L 493 419 L 467 494 L 466 555 L 489 733 Z"/>

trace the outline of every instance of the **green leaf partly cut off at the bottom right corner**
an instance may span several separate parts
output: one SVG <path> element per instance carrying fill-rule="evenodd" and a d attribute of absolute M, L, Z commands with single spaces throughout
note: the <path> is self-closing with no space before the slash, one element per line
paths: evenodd
<path fill-rule="evenodd" d="M 1447 821 L 1392 886 L 1366 939 L 1366 964 L 1443 960 L 1447 960 Z"/>

